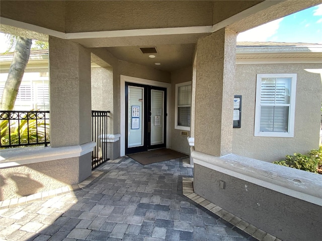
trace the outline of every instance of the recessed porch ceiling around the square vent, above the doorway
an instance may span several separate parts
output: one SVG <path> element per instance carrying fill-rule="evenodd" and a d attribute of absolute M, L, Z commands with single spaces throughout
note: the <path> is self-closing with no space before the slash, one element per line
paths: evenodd
<path fill-rule="evenodd" d="M 149 36 L 102 37 L 72 39 L 87 48 L 103 48 L 119 60 L 144 65 L 147 67 L 173 71 L 193 62 L 194 47 L 200 37 L 211 33 L 159 34 Z M 143 54 L 141 47 L 155 47 L 155 58 Z M 160 63 L 160 65 L 155 65 Z"/>

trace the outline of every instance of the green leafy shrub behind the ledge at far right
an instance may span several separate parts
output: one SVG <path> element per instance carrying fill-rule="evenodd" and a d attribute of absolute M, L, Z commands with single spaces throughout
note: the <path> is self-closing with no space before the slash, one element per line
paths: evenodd
<path fill-rule="evenodd" d="M 320 146 L 318 150 L 311 150 L 307 155 L 294 153 L 293 156 L 286 155 L 285 160 L 275 161 L 273 163 L 322 174 L 322 146 Z"/>

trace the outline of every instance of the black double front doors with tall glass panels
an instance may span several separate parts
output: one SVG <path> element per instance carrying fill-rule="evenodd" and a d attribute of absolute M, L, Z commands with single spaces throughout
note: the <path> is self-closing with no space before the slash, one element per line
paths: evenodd
<path fill-rule="evenodd" d="M 166 147 L 167 89 L 125 83 L 125 154 Z"/>

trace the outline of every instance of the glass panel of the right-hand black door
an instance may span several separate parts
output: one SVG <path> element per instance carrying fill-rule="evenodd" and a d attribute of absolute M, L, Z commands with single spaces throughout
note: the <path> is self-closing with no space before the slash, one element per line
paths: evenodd
<path fill-rule="evenodd" d="M 151 143 L 157 145 L 164 143 L 164 91 L 151 90 Z"/>

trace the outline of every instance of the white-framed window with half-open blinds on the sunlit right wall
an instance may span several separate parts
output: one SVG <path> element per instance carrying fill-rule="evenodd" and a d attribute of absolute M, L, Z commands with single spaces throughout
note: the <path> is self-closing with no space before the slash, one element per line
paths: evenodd
<path fill-rule="evenodd" d="M 293 137 L 296 74 L 258 74 L 254 136 Z"/>

